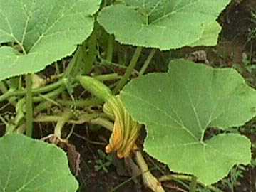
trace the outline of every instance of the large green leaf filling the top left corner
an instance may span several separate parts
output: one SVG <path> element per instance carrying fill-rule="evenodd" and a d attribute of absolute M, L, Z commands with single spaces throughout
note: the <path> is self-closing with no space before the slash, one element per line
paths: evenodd
<path fill-rule="evenodd" d="M 93 30 L 101 0 L 0 0 L 0 80 L 35 73 L 71 55 Z"/>

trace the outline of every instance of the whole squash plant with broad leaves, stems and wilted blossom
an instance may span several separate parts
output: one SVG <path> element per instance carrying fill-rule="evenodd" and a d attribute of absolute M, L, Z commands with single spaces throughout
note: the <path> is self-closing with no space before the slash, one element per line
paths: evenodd
<path fill-rule="evenodd" d="M 106 152 L 116 151 L 119 158 L 134 155 L 145 185 L 153 191 L 164 190 L 135 144 L 142 124 L 148 132 L 145 151 L 167 164 L 178 178 L 191 175 L 190 191 L 195 191 L 196 183 L 216 183 L 235 164 L 249 164 L 250 140 L 226 131 L 256 116 L 256 91 L 241 75 L 230 68 L 214 69 L 186 60 L 171 61 L 167 73 L 143 75 L 156 48 L 214 46 L 221 30 L 217 16 L 229 3 L 0 0 L 0 102 L 8 100 L 16 109 L 13 118 L 1 117 L 6 124 L 6 135 L 0 139 L 0 152 L 6 155 L 0 161 L 1 191 L 78 188 L 63 151 L 29 138 L 33 122 L 56 124 L 47 137 L 53 144 L 67 143 L 63 138 L 67 123 L 100 124 L 113 131 Z M 100 36 L 106 32 L 110 35 L 103 42 L 108 43 L 101 50 Z M 87 76 L 93 63 L 113 62 L 115 40 L 136 46 L 126 73 Z M 143 47 L 151 52 L 139 77 L 128 82 Z M 56 67 L 57 75 L 48 85 L 36 75 L 75 50 L 68 67 L 62 73 Z M 104 80 L 116 81 L 113 90 Z M 96 97 L 74 97 L 78 85 Z M 88 110 L 99 105 L 102 112 Z M 47 112 L 50 107 L 56 110 Z M 213 128 L 223 133 L 207 138 Z M 15 134 L 24 132 L 29 137 Z M 24 178 L 21 173 L 26 173 Z"/>

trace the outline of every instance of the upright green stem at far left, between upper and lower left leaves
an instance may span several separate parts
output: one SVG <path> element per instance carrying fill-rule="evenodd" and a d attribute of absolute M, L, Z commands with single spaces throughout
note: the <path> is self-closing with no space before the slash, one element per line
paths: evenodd
<path fill-rule="evenodd" d="M 31 74 L 26 75 L 26 135 L 32 137 L 33 133 L 33 93 Z"/>

